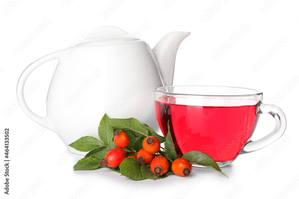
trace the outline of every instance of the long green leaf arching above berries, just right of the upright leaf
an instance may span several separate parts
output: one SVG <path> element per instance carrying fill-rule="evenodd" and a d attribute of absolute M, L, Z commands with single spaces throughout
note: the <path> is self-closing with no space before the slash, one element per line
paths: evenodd
<path fill-rule="evenodd" d="M 145 137 L 148 136 L 148 130 L 135 118 L 128 119 L 109 119 L 109 123 L 114 128 L 120 128 L 123 130 L 131 130 L 132 132 L 139 133 Z"/>

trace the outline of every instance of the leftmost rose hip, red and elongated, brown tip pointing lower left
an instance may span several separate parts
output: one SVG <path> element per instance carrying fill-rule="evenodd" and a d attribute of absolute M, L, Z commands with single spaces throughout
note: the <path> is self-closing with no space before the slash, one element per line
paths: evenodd
<path fill-rule="evenodd" d="M 117 167 L 121 161 L 126 158 L 126 152 L 121 148 L 114 148 L 107 152 L 105 158 L 103 158 L 99 166 Z"/>

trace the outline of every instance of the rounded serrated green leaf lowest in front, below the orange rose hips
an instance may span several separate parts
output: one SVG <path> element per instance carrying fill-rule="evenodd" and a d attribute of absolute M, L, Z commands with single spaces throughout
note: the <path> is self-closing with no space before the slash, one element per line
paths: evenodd
<path fill-rule="evenodd" d="M 132 180 L 145 180 L 145 178 L 141 173 L 141 164 L 137 162 L 134 158 L 125 158 L 120 163 L 120 173 Z"/>

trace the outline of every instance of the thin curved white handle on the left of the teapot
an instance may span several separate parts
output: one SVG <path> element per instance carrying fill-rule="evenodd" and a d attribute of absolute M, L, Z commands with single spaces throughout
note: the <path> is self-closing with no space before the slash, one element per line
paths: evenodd
<path fill-rule="evenodd" d="M 29 75 L 31 74 L 31 72 L 33 72 L 37 67 L 39 67 L 40 65 L 44 64 L 47 61 L 51 61 L 53 59 L 58 59 L 60 55 L 62 55 L 63 50 L 59 50 L 56 51 L 54 53 L 50 53 L 48 55 L 43 56 L 42 58 L 39 58 L 38 60 L 32 62 L 21 74 L 18 84 L 17 84 L 17 98 L 20 104 L 20 107 L 23 109 L 23 111 L 26 113 L 26 115 L 28 115 L 29 118 L 31 118 L 33 121 L 35 121 L 37 124 L 53 130 L 52 127 L 52 121 L 50 120 L 50 118 L 48 117 L 48 115 L 46 117 L 41 117 L 39 115 L 36 115 L 34 112 L 32 112 L 28 105 L 25 102 L 24 99 L 24 86 L 25 86 L 25 82 L 27 80 L 27 78 L 29 77 Z"/>

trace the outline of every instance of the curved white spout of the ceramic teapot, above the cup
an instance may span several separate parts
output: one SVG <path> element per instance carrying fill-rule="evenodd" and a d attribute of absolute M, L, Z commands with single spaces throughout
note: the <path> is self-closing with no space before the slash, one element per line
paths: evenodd
<path fill-rule="evenodd" d="M 172 32 L 164 36 L 153 48 L 157 60 L 157 69 L 163 86 L 173 85 L 174 65 L 176 53 L 182 41 L 191 33 Z"/>

